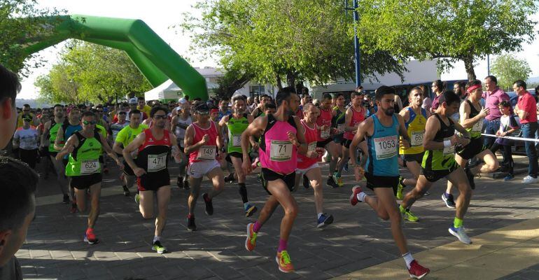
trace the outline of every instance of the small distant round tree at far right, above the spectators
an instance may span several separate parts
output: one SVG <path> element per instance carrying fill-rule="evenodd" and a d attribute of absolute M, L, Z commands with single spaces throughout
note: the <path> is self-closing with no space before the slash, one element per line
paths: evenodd
<path fill-rule="evenodd" d="M 511 91 L 515 80 L 528 80 L 531 68 L 524 59 L 500 55 L 492 62 L 491 72 L 498 79 L 499 87 Z"/>

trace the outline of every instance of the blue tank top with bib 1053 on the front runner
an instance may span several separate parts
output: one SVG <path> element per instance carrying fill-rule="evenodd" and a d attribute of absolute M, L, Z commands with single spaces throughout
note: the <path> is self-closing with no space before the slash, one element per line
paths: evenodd
<path fill-rule="evenodd" d="M 367 137 L 367 172 L 374 176 L 398 176 L 398 118 L 393 114 L 390 127 L 382 125 L 376 115 L 370 118 L 374 121 L 374 133 Z"/>

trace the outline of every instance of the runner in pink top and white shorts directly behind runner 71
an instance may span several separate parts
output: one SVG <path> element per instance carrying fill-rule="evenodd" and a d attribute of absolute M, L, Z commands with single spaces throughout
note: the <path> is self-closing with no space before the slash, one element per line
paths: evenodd
<path fill-rule="evenodd" d="M 307 141 L 307 153 L 297 154 L 297 169 L 295 169 L 295 188 L 300 183 L 302 176 L 307 176 L 307 181 L 314 190 L 314 207 L 316 208 L 316 227 L 323 228 L 333 222 L 333 216 L 323 213 L 322 171 L 318 166 L 318 159 L 325 150 L 316 147 L 316 115 L 318 109 L 313 104 L 303 106 L 304 118 L 301 120 L 300 134 L 305 135 Z M 304 179 L 305 180 L 305 179 Z M 309 185 L 307 185 L 309 188 Z"/>

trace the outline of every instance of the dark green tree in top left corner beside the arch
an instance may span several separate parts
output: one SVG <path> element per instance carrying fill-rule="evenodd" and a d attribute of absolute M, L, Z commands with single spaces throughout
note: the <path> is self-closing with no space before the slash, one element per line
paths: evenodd
<path fill-rule="evenodd" d="M 59 15 L 63 10 L 37 8 L 36 0 L 0 0 L 0 63 L 14 72 L 27 76 L 32 67 L 43 65 L 37 54 L 27 56 L 23 51 L 28 38 L 47 34 L 59 21 L 48 16 Z M 34 65 L 28 65 L 36 59 Z"/>

